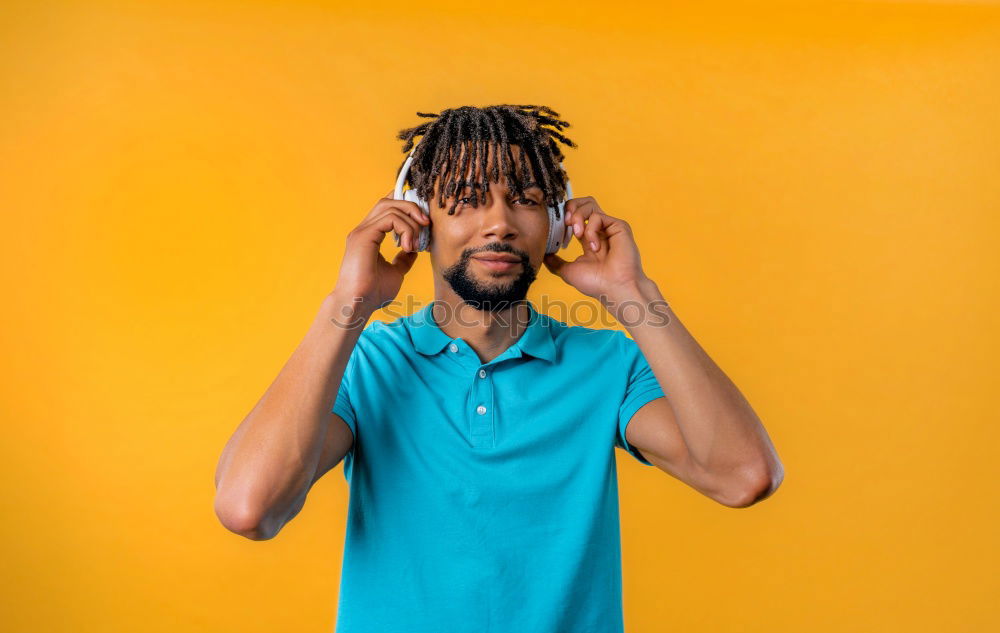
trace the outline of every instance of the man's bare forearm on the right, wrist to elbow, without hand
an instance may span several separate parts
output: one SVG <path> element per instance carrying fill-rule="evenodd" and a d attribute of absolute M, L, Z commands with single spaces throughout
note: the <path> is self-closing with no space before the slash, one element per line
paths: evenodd
<path fill-rule="evenodd" d="M 642 350 L 670 400 L 691 458 L 709 472 L 780 483 L 774 446 L 750 404 L 644 279 L 605 303 Z M 666 323 L 666 325 L 664 325 Z"/>

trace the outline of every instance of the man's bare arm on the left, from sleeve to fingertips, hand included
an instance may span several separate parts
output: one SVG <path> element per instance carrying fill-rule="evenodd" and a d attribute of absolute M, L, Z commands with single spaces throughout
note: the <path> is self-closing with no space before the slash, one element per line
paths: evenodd
<path fill-rule="evenodd" d="M 331 403 L 365 324 L 399 293 L 417 258 L 417 234 L 430 222 L 415 202 L 391 194 L 347 234 L 333 292 L 223 449 L 215 513 L 237 534 L 273 538 L 302 509 L 313 483 L 351 448 L 351 429 L 330 411 Z M 389 231 L 403 244 L 391 262 L 379 251 Z"/>

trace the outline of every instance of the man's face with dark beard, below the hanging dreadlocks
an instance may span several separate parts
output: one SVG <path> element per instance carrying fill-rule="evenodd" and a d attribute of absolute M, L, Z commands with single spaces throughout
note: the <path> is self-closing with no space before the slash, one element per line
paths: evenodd
<path fill-rule="evenodd" d="M 489 149 L 487 167 L 495 149 Z M 511 145 L 511 150 L 515 168 L 520 169 L 517 146 Z M 478 180 L 478 169 L 475 175 L 475 179 L 462 180 Z M 485 201 L 480 193 L 478 207 L 472 206 L 471 186 L 460 186 L 443 207 L 438 206 L 436 195 L 430 203 L 434 267 L 463 301 L 482 311 L 495 312 L 525 299 L 548 238 L 549 218 L 541 188 L 526 187 L 515 199 L 502 173 L 500 178 L 489 183 Z M 454 202 L 458 203 L 455 212 L 448 215 Z"/>

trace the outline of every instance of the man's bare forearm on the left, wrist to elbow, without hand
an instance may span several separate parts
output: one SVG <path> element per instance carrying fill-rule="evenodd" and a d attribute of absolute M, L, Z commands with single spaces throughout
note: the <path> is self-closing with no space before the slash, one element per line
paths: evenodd
<path fill-rule="evenodd" d="M 371 316 L 357 306 L 335 293 L 324 298 L 302 342 L 226 444 L 216 469 L 215 509 L 230 530 L 271 538 L 301 507 L 331 404 Z"/>

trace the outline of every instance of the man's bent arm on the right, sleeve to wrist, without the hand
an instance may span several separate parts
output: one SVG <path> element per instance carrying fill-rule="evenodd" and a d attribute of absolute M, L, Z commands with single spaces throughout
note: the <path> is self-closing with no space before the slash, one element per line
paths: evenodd
<path fill-rule="evenodd" d="M 633 308 L 618 312 L 626 302 Z M 767 431 L 656 284 L 647 278 L 624 288 L 606 307 L 625 325 L 668 394 L 636 411 L 626 428 L 629 444 L 723 505 L 742 508 L 770 496 L 781 485 L 784 468 Z"/>

